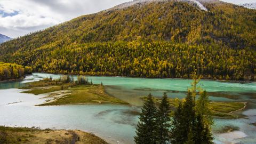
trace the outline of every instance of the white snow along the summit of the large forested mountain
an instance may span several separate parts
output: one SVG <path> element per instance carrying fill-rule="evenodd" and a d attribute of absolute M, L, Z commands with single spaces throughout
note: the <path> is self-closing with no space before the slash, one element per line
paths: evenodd
<path fill-rule="evenodd" d="M 151 2 L 164 2 L 170 0 L 133 0 L 131 2 L 123 3 L 114 7 L 114 9 L 123 9 L 125 7 L 132 6 L 138 3 L 151 3 Z M 207 11 L 207 9 L 198 0 L 178 0 L 180 2 L 195 3 L 201 10 Z"/>

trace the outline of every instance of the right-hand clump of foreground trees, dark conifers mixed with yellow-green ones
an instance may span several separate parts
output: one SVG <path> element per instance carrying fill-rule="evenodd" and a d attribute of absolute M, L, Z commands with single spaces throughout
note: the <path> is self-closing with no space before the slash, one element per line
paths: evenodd
<path fill-rule="evenodd" d="M 171 143 L 213 143 L 211 134 L 213 119 L 210 101 L 206 91 L 201 91 L 198 100 L 195 99 L 196 90 L 199 90 L 196 86 L 198 82 L 195 78 L 192 83 L 193 87 L 188 91 L 186 99 L 183 103 L 179 101 L 174 112 Z"/>

